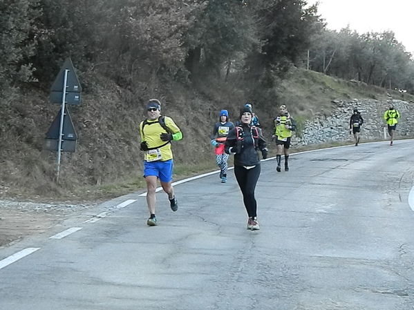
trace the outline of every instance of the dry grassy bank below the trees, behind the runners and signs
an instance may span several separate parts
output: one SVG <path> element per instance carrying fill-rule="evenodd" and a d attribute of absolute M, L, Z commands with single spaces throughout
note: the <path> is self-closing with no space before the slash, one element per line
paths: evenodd
<path fill-rule="evenodd" d="M 0 197 L 33 200 L 94 200 L 144 188 L 138 124 L 144 105 L 158 97 L 162 113 L 173 117 L 184 139 L 173 144 L 176 180 L 216 169 L 209 145 L 218 112 L 231 119 L 246 101 L 254 104 L 265 135 L 280 104 L 287 104 L 299 121 L 314 113 L 330 113 L 332 99 L 386 99 L 387 90 L 333 79 L 321 73 L 292 70 L 274 89 L 255 92 L 235 81 L 209 81 L 182 86 L 159 82 L 126 90 L 113 81 L 81 76 L 82 105 L 69 106 L 77 131 L 76 153 L 62 153 L 60 182 L 55 182 L 57 153 L 45 151 L 44 137 L 59 106 L 48 93 L 30 88 L 10 97 L 0 110 Z M 236 79 L 235 79 L 236 80 Z M 134 95 L 134 94 L 140 95 Z M 259 95 L 257 95 L 259 94 Z M 393 91 L 397 99 L 401 94 Z M 406 100 L 413 100 L 405 95 Z M 312 146 L 310 146 L 312 147 Z"/>

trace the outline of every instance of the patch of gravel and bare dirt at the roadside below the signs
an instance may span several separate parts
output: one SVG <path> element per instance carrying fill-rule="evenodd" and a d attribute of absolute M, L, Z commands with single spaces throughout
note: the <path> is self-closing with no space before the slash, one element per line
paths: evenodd
<path fill-rule="evenodd" d="M 99 202 L 45 204 L 0 200 L 0 247 L 43 233 L 66 218 L 97 204 Z"/>

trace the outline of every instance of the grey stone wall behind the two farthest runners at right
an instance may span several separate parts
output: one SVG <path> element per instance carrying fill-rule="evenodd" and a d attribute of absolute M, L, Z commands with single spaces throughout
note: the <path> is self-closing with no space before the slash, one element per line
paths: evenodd
<path fill-rule="evenodd" d="M 361 127 L 361 140 L 382 140 L 384 139 L 384 128 L 386 128 L 383 116 L 390 102 L 393 102 L 394 107 L 401 115 L 396 130 L 397 139 L 398 137 L 413 137 L 413 103 L 395 99 L 388 101 L 374 99 L 342 101 L 338 99 L 332 101 L 335 108 L 330 115 L 317 113 L 313 119 L 306 121 L 303 131 L 296 135 L 293 142 L 297 145 L 308 145 L 349 141 L 351 139 L 349 134 L 350 115 L 355 107 L 358 108 L 364 119 L 364 125 Z M 388 139 L 388 136 L 385 139 Z"/>

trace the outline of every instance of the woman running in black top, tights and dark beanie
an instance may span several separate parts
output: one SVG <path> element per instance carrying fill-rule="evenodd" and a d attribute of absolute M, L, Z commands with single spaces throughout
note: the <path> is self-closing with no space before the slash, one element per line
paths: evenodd
<path fill-rule="evenodd" d="M 257 222 L 257 204 L 254 198 L 254 189 L 260 175 L 261 166 L 258 151 L 263 159 L 267 158 L 267 148 L 261 128 L 251 126 L 252 110 L 243 108 L 240 113 L 241 124 L 230 130 L 225 142 L 225 152 L 234 153 L 234 175 L 243 194 L 243 202 L 249 220 L 247 229 L 260 229 Z"/>

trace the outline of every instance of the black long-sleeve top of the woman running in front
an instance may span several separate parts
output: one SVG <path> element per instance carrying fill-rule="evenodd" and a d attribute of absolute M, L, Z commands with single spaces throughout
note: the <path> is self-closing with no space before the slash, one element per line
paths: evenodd
<path fill-rule="evenodd" d="M 229 135 L 227 135 L 225 152 L 230 154 L 230 148 L 237 149 L 237 153 L 234 154 L 234 166 L 256 166 L 260 164 L 258 151 L 263 151 L 263 149 L 266 148 L 266 142 L 263 138 L 261 128 L 256 127 L 258 131 L 258 137 L 256 138 L 257 149 L 254 145 L 254 138 L 252 137 L 252 126 L 246 124 L 241 125 L 241 128 L 243 129 L 243 139 L 239 143 L 237 143 L 236 136 L 237 128 L 238 127 L 235 127 L 230 130 Z M 253 134 L 255 135 L 256 133 L 254 132 Z"/>

